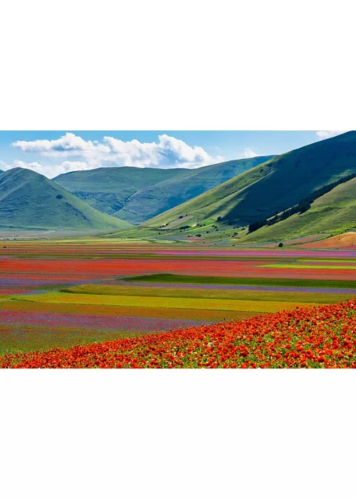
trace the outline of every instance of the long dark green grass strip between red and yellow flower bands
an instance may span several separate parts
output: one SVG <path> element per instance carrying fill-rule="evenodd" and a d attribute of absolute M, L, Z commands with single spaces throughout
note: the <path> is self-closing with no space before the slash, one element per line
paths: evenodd
<path fill-rule="evenodd" d="M 352 267 L 355 269 L 355 267 Z M 182 284 L 235 284 L 236 286 L 315 287 L 356 289 L 356 281 L 335 279 L 283 279 L 276 277 L 209 277 L 178 274 L 147 274 L 124 277 L 130 282 L 172 282 Z"/>

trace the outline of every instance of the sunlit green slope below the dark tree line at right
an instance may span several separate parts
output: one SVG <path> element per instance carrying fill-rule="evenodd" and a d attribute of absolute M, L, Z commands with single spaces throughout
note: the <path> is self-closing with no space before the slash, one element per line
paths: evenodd
<path fill-rule="evenodd" d="M 319 197 L 307 212 L 293 215 L 270 227 L 261 227 L 247 235 L 244 241 L 286 240 L 320 233 L 335 235 L 355 227 L 356 178 L 353 178 Z"/>

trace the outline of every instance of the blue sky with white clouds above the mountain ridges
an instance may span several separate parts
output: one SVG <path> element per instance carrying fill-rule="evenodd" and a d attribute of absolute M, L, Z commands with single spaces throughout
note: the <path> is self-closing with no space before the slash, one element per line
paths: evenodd
<path fill-rule="evenodd" d="M 337 131 L 0 131 L 0 169 L 30 168 L 53 178 L 100 166 L 199 168 L 224 160 L 286 153 Z"/>

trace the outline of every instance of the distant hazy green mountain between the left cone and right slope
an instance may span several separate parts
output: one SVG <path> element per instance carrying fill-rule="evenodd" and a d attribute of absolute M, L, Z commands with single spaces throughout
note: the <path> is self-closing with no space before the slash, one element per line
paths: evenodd
<path fill-rule="evenodd" d="M 196 169 L 97 168 L 65 173 L 53 180 L 95 209 L 137 225 L 270 158 L 273 156 L 232 160 Z"/>

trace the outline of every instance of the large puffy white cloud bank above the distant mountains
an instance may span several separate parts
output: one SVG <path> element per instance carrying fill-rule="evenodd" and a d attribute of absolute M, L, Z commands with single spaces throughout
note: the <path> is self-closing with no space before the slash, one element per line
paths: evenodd
<path fill-rule="evenodd" d="M 56 140 L 17 140 L 11 145 L 26 153 L 46 157 L 80 158 L 79 163 L 85 163 L 88 169 L 98 166 L 197 168 L 224 160 L 221 156 L 209 155 L 198 145 L 192 147 L 183 140 L 166 134 L 159 135 L 157 142 L 150 143 L 142 143 L 137 139 L 125 142 L 110 136 L 105 136 L 100 143 L 98 140 L 84 140 L 74 133 L 66 133 Z M 64 163 L 61 166 L 63 165 Z"/>

